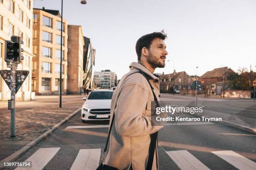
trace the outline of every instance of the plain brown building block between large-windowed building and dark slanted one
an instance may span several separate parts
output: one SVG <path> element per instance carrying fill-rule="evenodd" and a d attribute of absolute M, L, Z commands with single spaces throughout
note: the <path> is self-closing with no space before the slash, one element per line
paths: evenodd
<path fill-rule="evenodd" d="M 83 88 L 84 37 L 80 25 L 68 25 L 68 94 L 81 94 Z"/>

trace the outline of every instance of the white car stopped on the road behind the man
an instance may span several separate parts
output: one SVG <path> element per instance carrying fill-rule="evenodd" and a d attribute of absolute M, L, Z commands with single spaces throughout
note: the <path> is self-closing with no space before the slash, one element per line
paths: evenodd
<path fill-rule="evenodd" d="M 86 120 L 109 120 L 110 105 L 113 90 L 93 90 L 82 105 L 82 121 Z"/>

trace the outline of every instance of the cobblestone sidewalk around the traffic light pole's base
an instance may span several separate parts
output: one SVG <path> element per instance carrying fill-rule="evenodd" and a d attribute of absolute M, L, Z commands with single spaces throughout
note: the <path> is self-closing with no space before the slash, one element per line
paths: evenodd
<path fill-rule="evenodd" d="M 10 113 L 0 115 L 0 160 L 19 150 L 32 140 L 38 138 L 58 122 L 81 108 L 84 100 L 75 99 L 72 102 L 58 103 L 49 106 L 42 103 L 42 107 L 21 110 L 15 113 L 17 138 L 10 137 Z"/>

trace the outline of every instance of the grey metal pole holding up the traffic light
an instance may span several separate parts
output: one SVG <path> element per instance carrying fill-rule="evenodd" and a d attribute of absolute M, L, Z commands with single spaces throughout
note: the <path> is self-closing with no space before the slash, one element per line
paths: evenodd
<path fill-rule="evenodd" d="M 16 138 L 15 135 L 15 89 L 16 89 L 16 64 L 11 64 L 11 100 L 13 100 L 13 109 L 11 109 L 11 116 L 10 116 L 10 138 Z"/>

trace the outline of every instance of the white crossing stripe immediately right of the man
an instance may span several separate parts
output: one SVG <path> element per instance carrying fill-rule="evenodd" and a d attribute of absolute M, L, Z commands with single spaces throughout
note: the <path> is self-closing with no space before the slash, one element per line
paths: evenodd
<path fill-rule="evenodd" d="M 187 150 L 166 151 L 181 170 L 210 170 Z"/>

